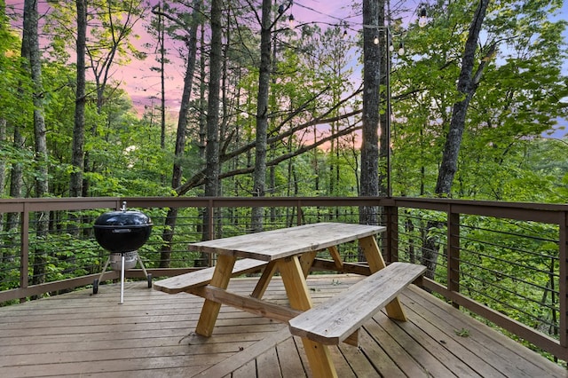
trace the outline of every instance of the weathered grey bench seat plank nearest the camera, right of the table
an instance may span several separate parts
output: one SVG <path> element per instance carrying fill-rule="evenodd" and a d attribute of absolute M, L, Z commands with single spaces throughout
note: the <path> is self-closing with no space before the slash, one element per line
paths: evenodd
<path fill-rule="evenodd" d="M 288 322 L 292 335 L 337 345 L 390 303 L 426 267 L 392 263 Z"/>

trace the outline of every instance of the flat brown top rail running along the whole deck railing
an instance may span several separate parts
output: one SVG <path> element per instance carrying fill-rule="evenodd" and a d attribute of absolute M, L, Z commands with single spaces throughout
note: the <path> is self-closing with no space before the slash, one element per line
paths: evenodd
<path fill-rule="evenodd" d="M 128 207 L 178 208 L 240 206 L 396 206 L 459 214 L 507 217 L 558 223 L 554 213 L 568 213 L 568 204 L 454 200 L 412 197 L 77 197 L 0 199 L 0 212 L 61 209 L 119 209 Z"/>

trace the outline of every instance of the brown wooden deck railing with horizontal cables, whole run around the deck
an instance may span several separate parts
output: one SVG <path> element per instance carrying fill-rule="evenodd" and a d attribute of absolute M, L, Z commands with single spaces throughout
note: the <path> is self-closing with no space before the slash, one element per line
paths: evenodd
<path fill-rule="evenodd" d="M 255 207 L 265 209 L 267 229 L 319 221 L 357 223 L 359 207 L 372 207 L 378 222 L 387 226 L 380 240 L 387 261 L 425 264 L 430 272 L 424 288 L 432 294 L 535 349 L 568 359 L 565 205 L 419 198 L 4 199 L 0 303 L 90 285 L 107 256 L 94 241 L 92 221 L 97 214 L 120 209 L 123 201 L 154 219 L 152 239 L 140 251 L 154 277 L 195 269 L 193 260 L 199 257 L 189 255 L 188 242 L 250 232 L 248 215 Z M 171 230 L 162 224 L 170 208 L 185 214 L 178 213 L 175 238 L 164 248 L 162 235 Z M 7 224 L 8 213 L 19 216 L 17 224 Z M 37 235 L 37 217 L 47 213 L 50 235 Z M 80 223 L 73 225 L 76 219 Z M 208 230 L 205 236 L 203 230 Z M 356 249 L 344 253 L 356 258 Z M 49 250 L 55 266 L 44 282 L 32 285 L 37 250 Z M 163 255 L 164 250 L 170 254 Z M 80 255 L 86 255 L 84 260 Z M 170 256 L 170 268 L 160 268 L 162 256 Z M 127 277 L 141 278 L 143 273 L 132 269 Z M 117 278 L 118 272 L 111 271 L 103 280 Z M 514 303 L 529 303 L 530 311 Z"/>

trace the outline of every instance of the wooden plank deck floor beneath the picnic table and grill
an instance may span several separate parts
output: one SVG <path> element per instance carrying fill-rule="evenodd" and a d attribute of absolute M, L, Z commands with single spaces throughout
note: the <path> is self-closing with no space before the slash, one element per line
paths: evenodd
<path fill-rule="evenodd" d="M 311 276 L 314 302 L 359 280 Z M 234 280 L 249 293 L 255 280 Z M 0 308 L 2 377 L 305 377 L 302 343 L 288 327 L 222 307 L 209 339 L 193 334 L 202 299 L 127 283 Z M 284 302 L 281 281 L 265 298 Z M 409 321 L 368 321 L 359 348 L 332 347 L 340 377 L 567 377 L 566 371 L 417 287 L 400 297 Z M 456 330 L 463 331 L 457 335 Z"/>

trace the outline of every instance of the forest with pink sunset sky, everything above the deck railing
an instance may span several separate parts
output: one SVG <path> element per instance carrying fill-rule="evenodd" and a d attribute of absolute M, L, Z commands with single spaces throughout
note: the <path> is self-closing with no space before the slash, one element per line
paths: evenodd
<path fill-rule="evenodd" d="M 20 59 L 26 48 L 24 3 L 2 4 L 3 196 L 366 195 L 361 166 L 369 160 L 367 135 L 360 132 L 365 98 L 361 65 L 353 61 L 363 61 L 367 31 L 382 39 L 388 31 L 397 47 L 404 43 L 405 54 L 395 51 L 390 59 L 390 109 L 384 69 L 375 89 L 378 194 L 390 189 L 384 183 L 389 174 L 393 195 L 566 201 L 566 140 L 543 138 L 558 136 L 557 122 L 566 119 L 565 21 L 554 18 L 562 2 L 486 2 L 455 177 L 444 191 L 437 180 L 454 105 L 464 96 L 458 82 L 466 39 L 484 2 L 386 7 L 377 2 L 383 18 L 376 25 L 388 30 L 370 28 L 361 4 L 343 5 L 345 18 L 331 18 L 335 23 L 289 28 L 289 15 L 316 5 L 290 2 L 279 9 L 264 2 L 263 9 L 253 2 L 225 2 L 217 4 L 218 33 L 212 28 L 213 4 L 87 2 L 80 54 L 75 3 L 82 2 L 38 4 L 41 89 L 33 64 Z M 418 27 L 422 8 L 430 20 L 425 28 Z M 153 36 L 144 49 L 136 42 L 140 28 Z M 266 39 L 268 57 L 261 53 Z M 386 50 L 383 42 L 371 46 L 382 47 Z M 77 75 L 80 55 L 86 59 L 83 84 Z M 385 56 L 383 51 L 377 60 Z M 161 91 L 150 95 L 142 116 L 115 80 L 135 60 L 162 77 Z M 168 116 L 167 77 L 180 61 L 185 78 L 176 119 Z M 211 62 L 220 67 L 213 86 Z M 145 81 L 139 77 L 136 85 Z M 218 96 L 211 97 L 217 89 Z M 83 106 L 83 118 L 75 104 Z M 390 172 L 381 126 L 387 113 Z M 38 114 L 43 130 L 35 124 Z M 266 146 L 259 144 L 258 130 Z M 373 165 L 376 157 L 370 158 Z"/>

